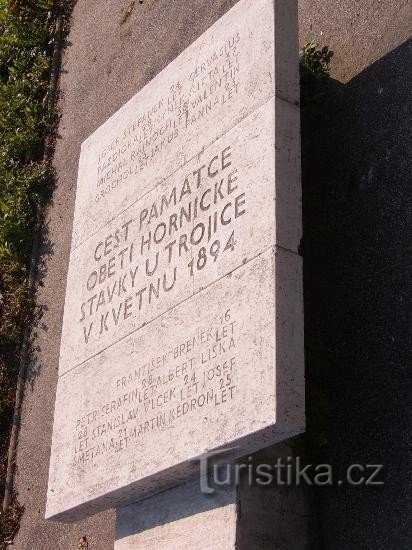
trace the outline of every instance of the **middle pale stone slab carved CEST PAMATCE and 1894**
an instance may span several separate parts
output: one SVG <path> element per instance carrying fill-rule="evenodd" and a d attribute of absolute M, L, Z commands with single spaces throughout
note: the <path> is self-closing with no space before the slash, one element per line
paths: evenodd
<path fill-rule="evenodd" d="M 269 100 L 73 250 L 60 374 L 273 243 L 296 248 L 298 180 L 279 176 L 280 205 L 273 185 L 277 111 L 285 124 L 283 142 L 276 141 L 296 170 L 298 142 L 288 142 L 288 133 L 297 109 Z"/>

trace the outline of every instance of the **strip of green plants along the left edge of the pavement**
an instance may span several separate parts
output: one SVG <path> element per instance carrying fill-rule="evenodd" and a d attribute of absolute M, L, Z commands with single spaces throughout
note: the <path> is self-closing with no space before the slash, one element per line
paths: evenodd
<path fill-rule="evenodd" d="M 54 26 L 52 0 L 0 0 L 0 497 L 19 353 L 32 304 L 30 252 L 36 209 L 48 196 L 43 162 Z M 18 506 L 0 518 L 0 544 L 12 537 Z"/>

